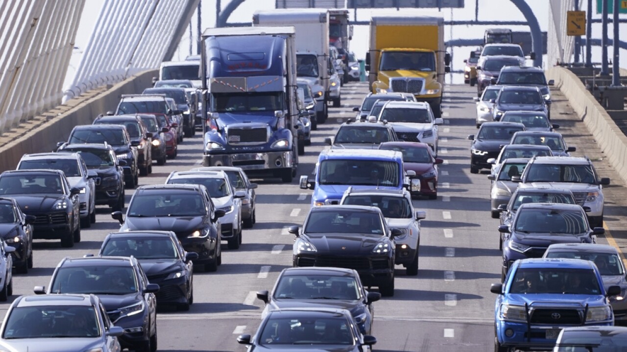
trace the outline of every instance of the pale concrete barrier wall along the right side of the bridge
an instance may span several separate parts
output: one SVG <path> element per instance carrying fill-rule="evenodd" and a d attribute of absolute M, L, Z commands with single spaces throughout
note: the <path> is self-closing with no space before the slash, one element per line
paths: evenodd
<path fill-rule="evenodd" d="M 599 143 L 601 151 L 627 182 L 627 137 L 624 133 L 574 73 L 556 66 L 547 70 L 546 76 L 548 80 L 555 80 L 557 88 L 568 97 L 572 108 Z"/>

